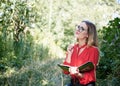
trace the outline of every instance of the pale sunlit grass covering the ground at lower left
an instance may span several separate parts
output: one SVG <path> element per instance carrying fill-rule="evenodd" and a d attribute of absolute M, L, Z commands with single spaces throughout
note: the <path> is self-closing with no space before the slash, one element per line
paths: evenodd
<path fill-rule="evenodd" d="M 27 61 L 20 70 L 9 69 L 6 75 L 0 78 L 1 86 L 61 86 L 61 71 L 57 68 L 60 59 L 49 60 L 49 63 L 34 59 Z"/>

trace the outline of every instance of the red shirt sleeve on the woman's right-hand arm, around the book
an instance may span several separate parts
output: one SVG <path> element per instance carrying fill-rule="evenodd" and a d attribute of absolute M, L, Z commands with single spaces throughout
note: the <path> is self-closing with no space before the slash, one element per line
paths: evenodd
<path fill-rule="evenodd" d="M 94 70 L 84 72 L 83 78 L 80 78 L 81 84 L 87 84 L 89 82 L 96 81 L 96 66 L 99 60 L 99 50 L 97 47 L 91 46 L 87 49 L 86 61 L 90 61 L 94 64 Z"/>

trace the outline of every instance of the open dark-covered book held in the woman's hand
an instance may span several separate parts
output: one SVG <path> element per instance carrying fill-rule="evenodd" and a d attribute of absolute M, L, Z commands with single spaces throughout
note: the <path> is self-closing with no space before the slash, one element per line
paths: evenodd
<path fill-rule="evenodd" d="M 58 64 L 58 66 L 64 71 L 69 71 L 69 67 L 72 67 L 72 66 L 64 65 L 64 64 Z M 87 72 L 87 71 L 94 69 L 94 64 L 92 62 L 86 62 L 85 64 L 79 66 L 78 69 L 79 69 L 79 72 L 81 73 Z"/>

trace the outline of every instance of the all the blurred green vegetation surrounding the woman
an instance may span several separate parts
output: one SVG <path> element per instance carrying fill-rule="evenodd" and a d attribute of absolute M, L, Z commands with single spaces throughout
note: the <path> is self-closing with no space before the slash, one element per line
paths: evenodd
<path fill-rule="evenodd" d="M 91 20 L 98 28 L 97 85 L 118 86 L 117 13 L 120 6 L 115 0 L 1 0 L 0 86 L 64 86 L 69 76 L 57 63 L 75 41 L 74 26 L 82 20 Z"/>

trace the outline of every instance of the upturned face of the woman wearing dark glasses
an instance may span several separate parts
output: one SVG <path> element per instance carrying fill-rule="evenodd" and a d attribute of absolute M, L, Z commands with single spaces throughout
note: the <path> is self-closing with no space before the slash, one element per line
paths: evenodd
<path fill-rule="evenodd" d="M 88 38 L 88 27 L 85 22 L 76 26 L 75 37 L 79 40 Z"/>

